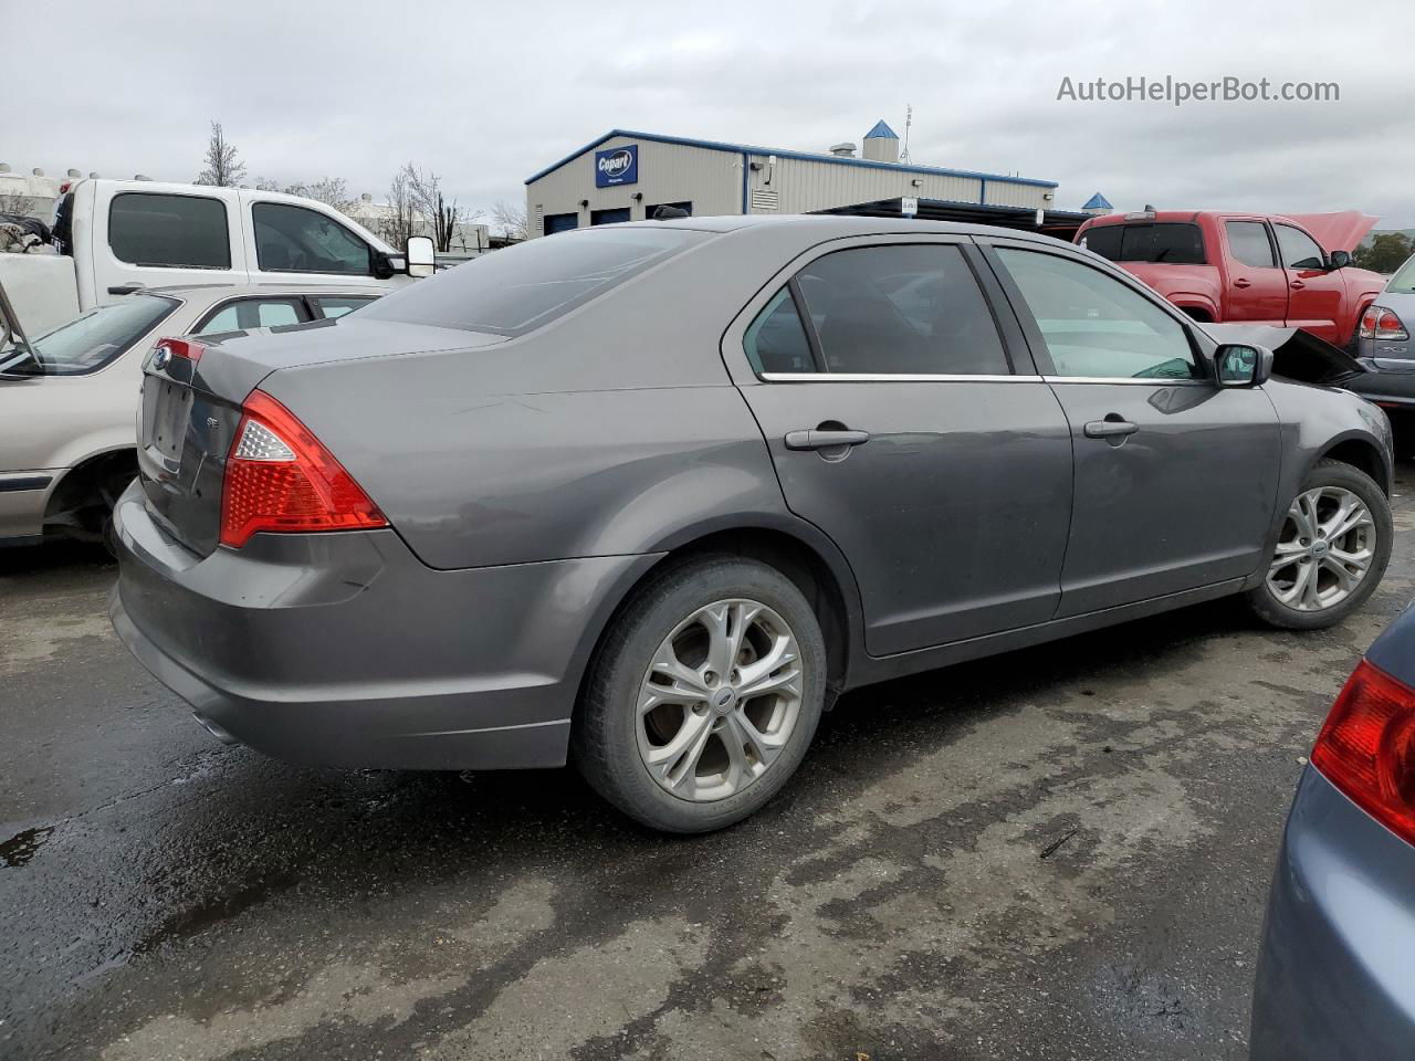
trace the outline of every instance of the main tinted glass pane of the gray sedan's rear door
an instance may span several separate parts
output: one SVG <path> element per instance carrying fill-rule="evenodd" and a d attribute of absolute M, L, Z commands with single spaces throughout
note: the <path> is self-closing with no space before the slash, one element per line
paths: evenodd
<path fill-rule="evenodd" d="M 962 250 L 836 250 L 797 276 L 828 372 L 1009 375 L 998 325 Z"/>

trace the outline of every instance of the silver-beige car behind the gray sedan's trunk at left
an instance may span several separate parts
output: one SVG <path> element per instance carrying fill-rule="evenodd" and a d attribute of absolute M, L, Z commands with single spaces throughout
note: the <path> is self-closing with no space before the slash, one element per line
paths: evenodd
<path fill-rule="evenodd" d="M 113 502 L 137 474 L 142 362 L 160 335 L 333 320 L 383 290 L 158 287 L 31 337 L 33 352 L 0 347 L 0 545 L 105 535 Z"/>

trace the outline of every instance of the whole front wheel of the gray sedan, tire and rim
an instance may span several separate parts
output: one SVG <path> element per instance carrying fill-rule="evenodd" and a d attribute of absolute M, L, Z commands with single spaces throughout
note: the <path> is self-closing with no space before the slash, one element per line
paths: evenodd
<path fill-rule="evenodd" d="M 1364 471 L 1323 460 L 1288 508 L 1248 604 L 1283 630 L 1332 627 L 1370 597 L 1391 562 L 1391 505 Z"/>

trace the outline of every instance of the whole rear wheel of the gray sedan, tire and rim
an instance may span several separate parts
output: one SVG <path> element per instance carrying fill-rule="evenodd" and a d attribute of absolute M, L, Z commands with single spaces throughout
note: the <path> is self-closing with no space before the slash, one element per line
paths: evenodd
<path fill-rule="evenodd" d="M 825 675 L 821 624 L 781 572 L 729 555 L 675 564 L 635 594 L 596 654 L 574 763 L 642 825 L 722 829 L 801 765 Z"/>

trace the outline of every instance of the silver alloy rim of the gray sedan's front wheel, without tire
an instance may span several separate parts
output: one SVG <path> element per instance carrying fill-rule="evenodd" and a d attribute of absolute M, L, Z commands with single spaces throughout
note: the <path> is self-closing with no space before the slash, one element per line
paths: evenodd
<path fill-rule="evenodd" d="M 1375 521 L 1343 487 L 1298 494 L 1268 566 L 1268 589 L 1295 611 L 1324 611 L 1347 597 L 1375 557 Z"/>

